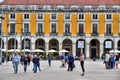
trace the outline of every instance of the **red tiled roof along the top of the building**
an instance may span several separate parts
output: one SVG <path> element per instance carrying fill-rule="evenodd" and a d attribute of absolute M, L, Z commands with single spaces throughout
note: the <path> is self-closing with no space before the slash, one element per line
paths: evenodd
<path fill-rule="evenodd" d="M 72 4 L 76 4 L 76 5 L 120 5 L 120 0 L 4 0 L 3 2 L 1 2 L 0 4 L 11 4 L 11 5 L 15 5 L 15 4 L 64 4 L 64 5 L 72 5 Z"/>

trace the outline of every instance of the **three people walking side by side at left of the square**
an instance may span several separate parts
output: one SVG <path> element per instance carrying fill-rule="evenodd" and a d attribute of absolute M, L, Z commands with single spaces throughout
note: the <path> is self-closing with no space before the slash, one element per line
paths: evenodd
<path fill-rule="evenodd" d="M 19 56 L 17 52 L 15 52 L 12 56 L 12 64 L 13 64 L 13 68 L 14 68 L 14 73 L 17 74 L 18 73 L 18 65 L 21 63 L 21 65 L 24 66 L 24 72 L 27 71 L 27 66 L 30 65 L 30 62 L 33 62 L 33 72 L 36 73 L 37 72 L 37 67 L 39 69 L 39 71 L 41 71 L 40 69 L 40 58 L 35 54 L 33 55 L 33 57 L 31 57 L 30 55 L 21 55 Z"/>

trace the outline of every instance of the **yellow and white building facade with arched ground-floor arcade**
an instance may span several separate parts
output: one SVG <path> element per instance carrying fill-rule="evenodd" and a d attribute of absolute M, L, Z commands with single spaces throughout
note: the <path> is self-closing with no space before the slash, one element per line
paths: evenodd
<path fill-rule="evenodd" d="M 4 1 L 0 4 L 3 49 L 66 49 L 74 56 L 82 51 L 86 58 L 120 50 L 120 1 L 108 5 Z"/>

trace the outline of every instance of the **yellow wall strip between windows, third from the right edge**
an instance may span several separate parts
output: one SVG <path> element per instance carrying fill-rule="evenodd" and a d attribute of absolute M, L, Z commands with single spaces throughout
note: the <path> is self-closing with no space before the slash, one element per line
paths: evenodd
<path fill-rule="evenodd" d="M 85 33 L 91 34 L 91 14 L 85 14 Z"/>

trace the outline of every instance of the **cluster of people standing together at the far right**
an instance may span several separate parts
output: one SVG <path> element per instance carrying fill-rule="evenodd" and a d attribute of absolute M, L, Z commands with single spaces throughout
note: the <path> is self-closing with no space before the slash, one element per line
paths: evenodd
<path fill-rule="evenodd" d="M 113 54 L 113 53 L 106 53 L 104 58 L 104 63 L 106 69 L 118 69 L 118 63 L 119 63 L 119 54 Z"/>

